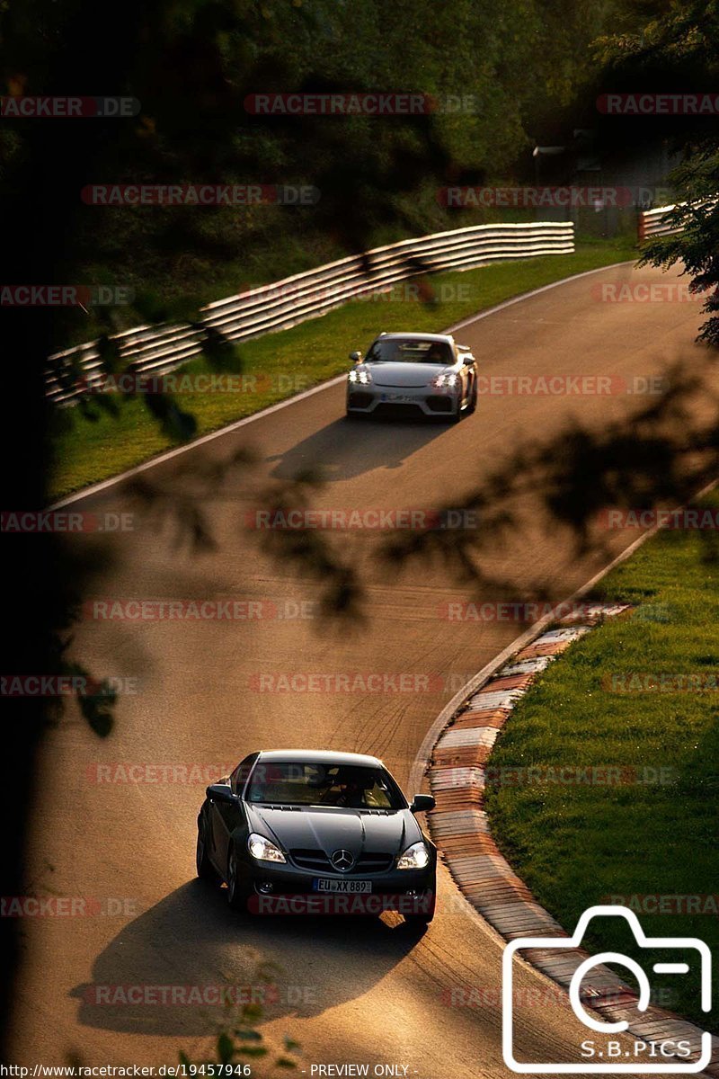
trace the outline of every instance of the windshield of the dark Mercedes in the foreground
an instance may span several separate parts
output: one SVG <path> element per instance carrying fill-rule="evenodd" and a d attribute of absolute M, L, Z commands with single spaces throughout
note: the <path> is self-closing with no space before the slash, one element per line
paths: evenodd
<path fill-rule="evenodd" d="M 291 761 L 260 761 L 247 800 L 265 805 L 406 808 L 400 789 L 384 768 Z"/>

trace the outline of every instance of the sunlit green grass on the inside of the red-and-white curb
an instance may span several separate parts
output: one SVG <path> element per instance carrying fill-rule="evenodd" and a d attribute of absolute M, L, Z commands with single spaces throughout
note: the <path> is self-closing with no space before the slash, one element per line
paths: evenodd
<path fill-rule="evenodd" d="M 719 506 L 719 497 L 709 504 Z M 665 531 L 650 540 L 600 586 L 603 598 L 636 604 L 634 613 L 572 644 L 521 701 L 497 741 L 497 768 L 613 765 L 646 778 L 654 773 L 642 769 L 670 769 L 665 778 L 672 782 L 664 783 L 497 784 L 488 793 L 502 852 L 567 930 L 607 896 L 718 890 L 719 694 L 607 688 L 632 672 L 703 674 L 717 684 L 717 556 L 707 533 Z M 648 935 L 699 937 L 715 954 L 719 950 L 716 911 L 636 913 Z M 640 958 L 616 921 L 595 924 L 590 944 Z M 707 1021 L 700 1011 L 696 975 L 694 965 L 691 976 L 651 980 L 667 1005 L 716 1029 L 716 1012 Z"/>

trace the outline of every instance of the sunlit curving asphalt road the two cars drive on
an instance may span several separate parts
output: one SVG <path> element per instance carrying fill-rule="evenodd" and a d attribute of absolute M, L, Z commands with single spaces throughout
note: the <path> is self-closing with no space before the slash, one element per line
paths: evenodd
<path fill-rule="evenodd" d="M 456 336 L 493 375 L 581 373 L 612 378 L 619 387 L 618 379 L 636 386 L 635 378 L 658 375 L 677 359 L 703 370 L 706 354 L 692 344 L 696 303 L 597 298 L 603 282 L 667 279 L 650 270 L 606 270 Z M 648 402 L 621 388 L 509 393 L 482 398 L 475 415 L 447 427 L 348 423 L 343 394 L 329 387 L 147 473 L 168 504 L 182 500 L 184 524 L 204 515 L 216 547 L 193 548 L 172 514 L 157 507 L 138 515 L 133 531 L 77 536 L 78 552 L 97 556 L 87 600 L 233 598 L 272 602 L 284 613 L 292 613 L 286 604 L 293 601 L 309 603 L 304 614 L 313 614 L 318 584 L 287 555 L 274 557 L 266 533 L 247 528 L 263 486 L 319 468 L 326 484 L 313 495 L 315 507 L 452 505 L 521 442 L 558 438 L 572 419 L 600 431 Z M 257 464 L 219 478 L 216 466 L 240 448 L 251 449 Z M 138 514 L 127 484 L 78 508 Z M 564 598 L 637 535 L 613 532 L 605 551 L 578 557 L 566 530 L 548 525 L 531 491 L 515 508 L 511 535 L 482 556 L 506 582 L 504 599 L 524 599 L 538 584 Z M 269 991 L 254 991 L 255 999 L 267 994 L 263 1030 L 271 1040 L 286 1033 L 296 1039 L 308 1075 L 310 1064 L 347 1062 L 397 1064 L 423 1079 L 509 1075 L 500 1044 L 500 943 L 446 872 L 438 917 L 424 937 L 393 916 L 351 925 L 249 921 L 194 879 L 195 816 L 208 769 L 219 774 L 255 748 L 344 749 L 381 755 L 404 784 L 443 704 L 523 628 L 512 618 L 447 620 L 447 602 L 496 593 L 472 590 L 442 562 L 388 570 L 379 558 L 386 532 L 335 531 L 329 540 L 365 587 L 360 626 L 272 617 L 268 605 L 260 620 L 80 623 L 75 653 L 93 671 L 137 679 L 138 686 L 121 697 L 107 740 L 95 738 L 72 707 L 45 740 L 28 892 L 97 902 L 84 916 L 26 919 L 15 1063 L 63 1063 L 69 1052 L 88 1064 L 175 1063 L 180 1049 L 193 1055 L 205 1047 L 223 1009 L 103 1003 L 115 991 L 102 986 L 207 993 L 260 986 L 265 976 Z M 298 673 L 332 675 L 330 688 L 282 689 L 278 677 Z M 389 685 L 332 688 L 334 675 L 354 673 L 388 675 Z M 398 688 L 395 675 L 414 688 Z M 135 781 L 123 781 L 117 764 L 139 766 Z M 163 776 L 156 765 L 204 770 L 172 781 L 181 774 Z M 551 999 L 549 983 L 529 969 L 520 970 L 517 986 L 517 1051 L 528 1060 L 576 1060 L 583 1034 L 568 1007 Z M 550 997 L 538 1002 L 538 993 Z"/>

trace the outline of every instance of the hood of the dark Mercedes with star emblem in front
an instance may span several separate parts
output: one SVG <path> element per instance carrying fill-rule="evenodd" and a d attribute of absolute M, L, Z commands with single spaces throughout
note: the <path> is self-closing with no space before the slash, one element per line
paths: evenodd
<path fill-rule="evenodd" d="M 281 809 L 249 806 L 250 828 L 292 848 L 319 849 L 328 857 L 340 848 L 355 858 L 362 853 L 401 853 L 421 838 L 409 809 L 357 810 L 334 807 Z"/>

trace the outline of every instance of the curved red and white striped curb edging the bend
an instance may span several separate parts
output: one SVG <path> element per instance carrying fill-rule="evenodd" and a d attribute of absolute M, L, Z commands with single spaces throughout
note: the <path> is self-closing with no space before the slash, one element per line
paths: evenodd
<path fill-rule="evenodd" d="M 434 745 L 429 769 L 437 808 L 429 815 L 432 838 L 465 898 L 506 941 L 518 937 L 567 938 L 500 853 L 484 809 L 487 765 L 493 746 L 512 709 L 529 686 L 573 641 L 627 605 L 587 606 L 581 624 L 567 616 L 541 629 L 498 670 L 468 692 Z M 469 688 L 469 687 L 468 687 Z M 527 950 L 524 956 L 564 989 L 589 953 L 579 947 Z M 586 1005 L 605 1022 L 626 1020 L 628 1033 L 647 1042 L 688 1041 L 701 1055 L 702 1030 L 665 1009 L 650 1006 L 636 1020 L 637 993 L 608 967 L 594 967 Z M 711 1063 L 703 1073 L 719 1077 L 719 1038 L 711 1039 Z M 689 1063 L 683 1060 L 682 1063 Z"/>

